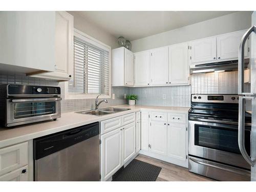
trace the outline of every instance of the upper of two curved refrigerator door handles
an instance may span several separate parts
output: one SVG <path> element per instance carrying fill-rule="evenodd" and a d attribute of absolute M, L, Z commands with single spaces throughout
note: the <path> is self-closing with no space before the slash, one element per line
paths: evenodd
<path fill-rule="evenodd" d="M 251 93 L 244 93 L 244 45 L 251 32 L 256 32 L 256 26 L 251 26 L 243 35 L 239 49 L 238 49 L 238 94 L 252 95 Z"/>

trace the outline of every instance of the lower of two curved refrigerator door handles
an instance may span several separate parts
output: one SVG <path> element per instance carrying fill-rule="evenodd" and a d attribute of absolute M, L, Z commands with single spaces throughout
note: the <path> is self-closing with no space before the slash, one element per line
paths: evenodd
<path fill-rule="evenodd" d="M 255 99 L 255 97 L 245 97 L 245 96 L 239 97 L 238 145 L 244 159 L 253 167 L 254 161 L 251 160 L 250 156 L 247 154 L 245 150 L 245 144 L 244 144 L 245 99 Z"/>

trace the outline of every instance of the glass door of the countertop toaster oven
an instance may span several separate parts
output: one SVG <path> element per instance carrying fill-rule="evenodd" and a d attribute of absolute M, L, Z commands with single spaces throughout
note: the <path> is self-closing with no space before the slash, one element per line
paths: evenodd
<path fill-rule="evenodd" d="M 25 98 L 6 100 L 6 126 L 14 126 L 60 117 L 61 98 Z"/>

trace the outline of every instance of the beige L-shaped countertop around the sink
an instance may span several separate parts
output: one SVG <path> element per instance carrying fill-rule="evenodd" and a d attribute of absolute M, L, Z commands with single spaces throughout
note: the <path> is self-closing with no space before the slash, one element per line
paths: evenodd
<path fill-rule="evenodd" d="M 70 112 L 61 114 L 61 118 L 58 118 L 56 121 L 43 121 L 39 123 L 20 125 L 14 128 L 0 127 L 0 148 L 37 137 L 72 129 L 77 126 L 137 112 L 140 110 L 161 110 L 165 112 L 175 111 L 176 113 L 187 113 L 189 110 L 189 108 L 174 106 L 118 105 L 115 107 L 129 108 L 131 110 L 103 116 L 84 115 Z"/>

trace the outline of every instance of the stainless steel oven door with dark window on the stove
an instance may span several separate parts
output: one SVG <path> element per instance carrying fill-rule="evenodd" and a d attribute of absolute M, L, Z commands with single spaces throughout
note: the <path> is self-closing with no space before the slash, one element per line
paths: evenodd
<path fill-rule="evenodd" d="M 248 154 L 250 132 L 250 127 L 246 127 L 245 146 Z M 238 125 L 189 120 L 188 154 L 250 169 L 239 150 Z"/>

